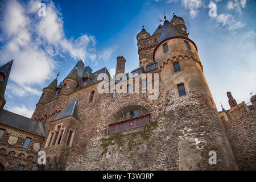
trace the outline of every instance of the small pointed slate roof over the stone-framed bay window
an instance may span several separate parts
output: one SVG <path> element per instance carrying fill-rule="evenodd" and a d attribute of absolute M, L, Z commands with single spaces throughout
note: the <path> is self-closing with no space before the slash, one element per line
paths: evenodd
<path fill-rule="evenodd" d="M 69 102 L 69 104 L 65 107 L 65 109 L 63 109 L 61 113 L 57 115 L 57 117 L 53 121 L 67 118 L 69 116 L 72 116 L 77 120 L 80 120 L 77 99 L 74 99 L 71 102 Z"/>

